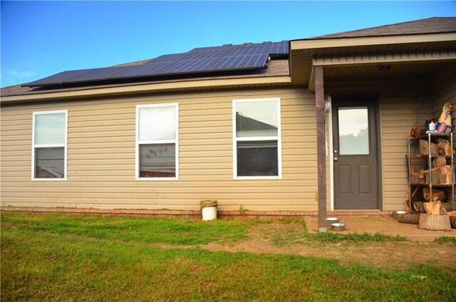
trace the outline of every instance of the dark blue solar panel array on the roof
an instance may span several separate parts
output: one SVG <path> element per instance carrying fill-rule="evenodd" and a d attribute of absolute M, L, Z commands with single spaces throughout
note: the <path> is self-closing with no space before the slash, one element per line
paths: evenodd
<path fill-rule="evenodd" d="M 288 41 L 195 48 L 187 53 L 159 56 L 140 65 L 63 71 L 23 86 L 37 87 L 157 75 L 259 69 L 266 67 L 268 56 L 283 54 L 288 54 Z"/>

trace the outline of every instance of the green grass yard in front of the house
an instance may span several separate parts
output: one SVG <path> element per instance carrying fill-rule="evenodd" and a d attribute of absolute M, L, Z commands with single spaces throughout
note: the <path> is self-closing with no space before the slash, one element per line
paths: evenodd
<path fill-rule="evenodd" d="M 210 244 L 226 247 L 242 242 L 265 223 L 2 213 L 1 301 L 454 301 L 456 297 L 456 271 L 433 264 L 398 270 L 293 254 L 205 249 Z M 299 229 L 294 234 L 307 234 L 305 224 L 292 224 Z M 307 236 L 303 248 L 321 240 Z M 396 241 L 374 237 L 348 240 Z M 279 240 L 285 249 L 286 238 L 296 240 L 296 236 Z M 333 244 L 341 240 L 338 237 Z M 442 246 L 449 244 L 455 246 L 445 240 Z"/>

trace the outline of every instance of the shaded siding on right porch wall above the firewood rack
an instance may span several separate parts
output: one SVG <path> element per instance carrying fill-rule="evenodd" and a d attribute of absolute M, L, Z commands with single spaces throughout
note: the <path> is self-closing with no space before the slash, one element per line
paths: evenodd
<path fill-rule="evenodd" d="M 456 133 L 456 63 L 449 63 L 432 77 L 432 116 L 439 118 L 445 103 L 452 104 L 452 126 Z M 456 137 L 453 137 L 456 140 Z M 456 142 L 455 142 L 456 146 Z"/>

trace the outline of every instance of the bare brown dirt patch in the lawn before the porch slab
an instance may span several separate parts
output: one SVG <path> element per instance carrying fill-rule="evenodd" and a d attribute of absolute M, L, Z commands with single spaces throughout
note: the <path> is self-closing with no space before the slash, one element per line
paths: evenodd
<path fill-rule="evenodd" d="M 259 254 L 296 254 L 336 259 L 341 264 L 364 264 L 405 269 L 418 264 L 434 264 L 456 271 L 456 245 L 418 241 L 326 243 L 306 239 L 299 223 L 273 222 L 252 227 L 247 239 L 233 244 L 209 243 L 199 248 L 210 251 L 252 252 Z"/>

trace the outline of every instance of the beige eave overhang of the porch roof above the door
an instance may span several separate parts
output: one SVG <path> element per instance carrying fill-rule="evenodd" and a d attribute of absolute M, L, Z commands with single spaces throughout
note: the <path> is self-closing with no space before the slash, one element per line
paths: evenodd
<path fill-rule="evenodd" d="M 294 84 L 314 91 L 314 66 L 373 66 L 456 61 L 456 32 L 290 41 Z"/>

